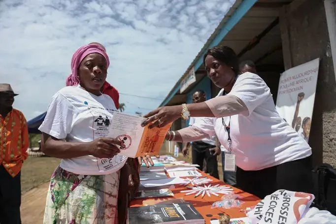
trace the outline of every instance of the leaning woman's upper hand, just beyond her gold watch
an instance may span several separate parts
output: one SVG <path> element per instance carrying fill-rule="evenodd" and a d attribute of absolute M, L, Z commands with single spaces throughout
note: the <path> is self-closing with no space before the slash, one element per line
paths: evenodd
<path fill-rule="evenodd" d="M 159 107 L 156 110 L 153 110 L 146 114 L 145 118 L 147 120 L 142 123 L 142 127 L 145 127 L 146 125 L 150 124 L 151 122 L 155 121 L 153 124 L 151 124 L 148 128 L 154 128 L 154 127 L 165 127 L 169 123 L 177 120 L 181 117 L 182 112 L 182 106 L 164 106 Z"/>

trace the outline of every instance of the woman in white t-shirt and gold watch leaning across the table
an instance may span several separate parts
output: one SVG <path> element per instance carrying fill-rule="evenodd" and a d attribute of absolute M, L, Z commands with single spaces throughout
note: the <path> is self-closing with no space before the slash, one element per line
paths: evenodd
<path fill-rule="evenodd" d="M 239 75 L 238 58 L 226 46 L 204 55 L 212 82 L 224 88 L 222 96 L 202 103 L 158 108 L 145 117 L 147 125 L 165 126 L 182 116 L 205 117 L 191 127 L 168 132 L 166 139 L 188 142 L 216 134 L 232 154 L 227 170 L 236 164 L 236 184 L 264 197 L 278 189 L 311 192 L 311 148 L 275 110 L 269 87 L 258 75 Z M 231 166 L 230 166 L 231 163 Z"/>

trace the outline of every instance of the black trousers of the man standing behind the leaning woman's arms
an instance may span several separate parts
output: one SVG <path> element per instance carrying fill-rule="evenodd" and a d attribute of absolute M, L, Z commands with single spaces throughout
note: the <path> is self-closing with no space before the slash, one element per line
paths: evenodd
<path fill-rule="evenodd" d="M 206 161 L 206 171 L 214 178 L 219 179 L 217 156 L 210 154 L 211 148 L 215 148 L 213 145 L 206 144 L 202 141 L 192 143 L 192 158 L 193 164 L 198 164 L 200 170 L 203 170 L 203 160 Z"/>

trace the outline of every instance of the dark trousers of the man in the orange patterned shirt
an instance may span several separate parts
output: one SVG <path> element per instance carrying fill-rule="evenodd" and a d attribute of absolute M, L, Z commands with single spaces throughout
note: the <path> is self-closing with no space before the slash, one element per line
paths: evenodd
<path fill-rule="evenodd" d="M 0 164 L 0 224 L 21 224 L 21 172 L 12 177 Z"/>

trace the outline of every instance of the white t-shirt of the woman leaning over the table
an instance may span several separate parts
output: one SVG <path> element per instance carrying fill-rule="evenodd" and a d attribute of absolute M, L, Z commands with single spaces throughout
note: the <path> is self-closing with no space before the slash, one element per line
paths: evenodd
<path fill-rule="evenodd" d="M 239 75 L 228 95 L 237 96 L 248 108 L 246 114 L 231 116 L 232 153 L 238 167 L 260 170 L 311 155 L 307 142 L 275 110 L 269 87 L 258 75 Z M 225 124 L 229 121 L 230 117 L 224 117 Z M 202 118 L 194 126 L 210 136 L 216 133 L 224 148 L 229 148 L 222 118 Z"/>

